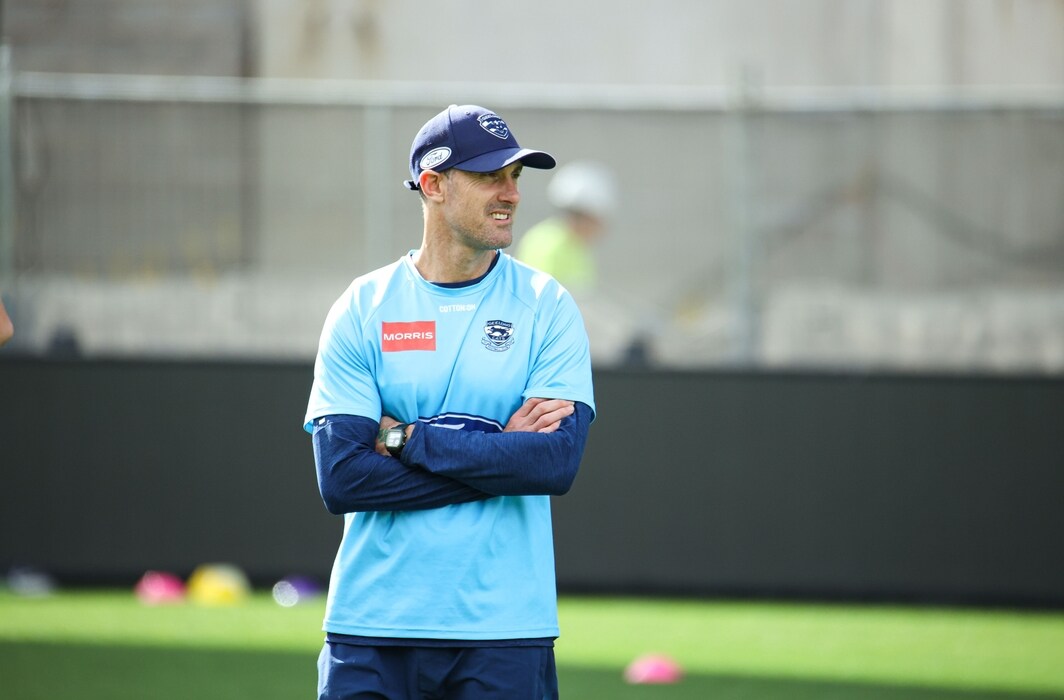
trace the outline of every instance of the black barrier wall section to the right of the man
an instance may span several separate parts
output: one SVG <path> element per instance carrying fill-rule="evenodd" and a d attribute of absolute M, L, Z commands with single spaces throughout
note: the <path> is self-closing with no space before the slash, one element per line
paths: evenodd
<path fill-rule="evenodd" d="M 1064 603 L 1064 381 L 600 373 L 569 588 Z"/>

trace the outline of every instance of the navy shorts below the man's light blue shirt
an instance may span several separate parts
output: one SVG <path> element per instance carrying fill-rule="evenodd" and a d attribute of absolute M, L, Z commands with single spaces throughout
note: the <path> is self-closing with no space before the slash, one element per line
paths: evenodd
<path fill-rule="evenodd" d="M 558 700 L 553 647 L 364 647 L 327 641 L 319 700 Z"/>

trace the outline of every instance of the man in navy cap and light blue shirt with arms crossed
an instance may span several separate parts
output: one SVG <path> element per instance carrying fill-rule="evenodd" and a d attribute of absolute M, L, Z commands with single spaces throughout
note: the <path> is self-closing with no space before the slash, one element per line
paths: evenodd
<path fill-rule="evenodd" d="M 344 514 L 320 698 L 558 697 L 550 496 L 594 418 L 571 297 L 500 249 L 527 167 L 498 115 L 451 105 L 411 148 L 421 247 L 326 320 L 304 428 Z"/>

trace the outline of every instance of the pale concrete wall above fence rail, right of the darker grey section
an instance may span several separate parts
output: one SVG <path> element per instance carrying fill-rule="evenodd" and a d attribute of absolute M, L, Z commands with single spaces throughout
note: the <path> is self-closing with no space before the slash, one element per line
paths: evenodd
<path fill-rule="evenodd" d="M 264 76 L 641 85 L 1064 84 L 1060 0 L 267 1 L 256 5 L 256 17 Z"/>

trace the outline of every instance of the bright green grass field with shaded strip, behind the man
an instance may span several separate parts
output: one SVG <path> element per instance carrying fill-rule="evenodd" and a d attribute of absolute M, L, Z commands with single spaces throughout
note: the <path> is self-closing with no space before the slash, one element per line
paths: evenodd
<path fill-rule="evenodd" d="M 322 607 L 0 591 L 0 698 L 310 698 Z M 560 614 L 567 700 L 1064 698 L 1064 613 L 563 598 Z M 683 681 L 626 684 L 650 652 Z"/>

